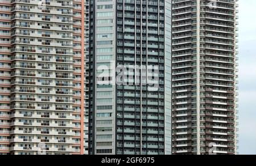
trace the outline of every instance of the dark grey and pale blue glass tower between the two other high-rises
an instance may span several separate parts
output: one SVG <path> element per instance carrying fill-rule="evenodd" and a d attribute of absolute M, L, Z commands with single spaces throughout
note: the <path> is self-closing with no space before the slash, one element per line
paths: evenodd
<path fill-rule="evenodd" d="M 171 1 L 90 2 L 89 153 L 171 154 Z"/>

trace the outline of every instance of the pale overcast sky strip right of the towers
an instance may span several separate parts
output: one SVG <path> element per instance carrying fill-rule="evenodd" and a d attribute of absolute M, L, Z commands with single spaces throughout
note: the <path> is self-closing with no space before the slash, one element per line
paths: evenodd
<path fill-rule="evenodd" d="M 239 117 L 241 155 L 256 155 L 256 1 L 239 3 Z"/>

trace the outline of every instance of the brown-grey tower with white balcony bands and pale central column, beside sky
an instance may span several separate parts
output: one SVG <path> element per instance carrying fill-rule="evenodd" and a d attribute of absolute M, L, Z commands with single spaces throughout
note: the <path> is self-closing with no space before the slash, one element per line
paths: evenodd
<path fill-rule="evenodd" d="M 237 1 L 172 1 L 172 153 L 236 154 Z"/>

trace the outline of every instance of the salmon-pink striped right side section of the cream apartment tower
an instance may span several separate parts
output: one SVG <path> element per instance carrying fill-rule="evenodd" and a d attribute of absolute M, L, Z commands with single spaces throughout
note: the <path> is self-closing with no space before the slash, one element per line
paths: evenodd
<path fill-rule="evenodd" d="M 88 154 L 89 0 L 73 1 L 73 154 Z"/>

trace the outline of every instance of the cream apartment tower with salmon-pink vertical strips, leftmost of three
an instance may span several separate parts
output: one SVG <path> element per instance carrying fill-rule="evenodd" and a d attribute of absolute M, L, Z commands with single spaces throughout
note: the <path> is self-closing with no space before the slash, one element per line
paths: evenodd
<path fill-rule="evenodd" d="M 88 154 L 88 4 L 0 1 L 1 153 Z"/>

